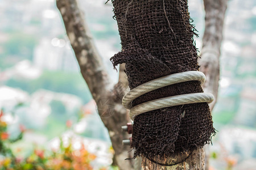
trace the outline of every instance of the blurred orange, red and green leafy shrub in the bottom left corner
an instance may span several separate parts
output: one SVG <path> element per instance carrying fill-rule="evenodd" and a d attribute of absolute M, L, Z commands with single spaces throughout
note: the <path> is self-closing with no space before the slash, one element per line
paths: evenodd
<path fill-rule="evenodd" d="M 58 150 L 46 150 L 45 148 L 34 147 L 32 152 L 27 156 L 20 157 L 13 154 L 10 148 L 11 143 L 17 142 L 23 137 L 26 131 L 20 127 L 20 135 L 17 139 L 9 139 L 7 133 L 7 124 L 2 120 L 3 111 L 0 113 L 0 170 L 90 170 L 92 160 L 96 159 L 96 155 L 90 154 L 83 143 L 81 148 L 74 149 L 71 141 L 68 145 L 60 138 L 60 147 Z M 22 150 L 20 148 L 20 150 Z M 101 168 L 104 170 L 105 168 Z M 112 168 L 115 169 L 115 168 Z"/>

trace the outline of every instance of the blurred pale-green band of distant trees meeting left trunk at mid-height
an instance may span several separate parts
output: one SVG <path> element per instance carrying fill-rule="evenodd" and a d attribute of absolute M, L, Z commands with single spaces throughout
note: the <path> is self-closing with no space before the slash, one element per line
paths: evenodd
<path fill-rule="evenodd" d="M 65 73 L 63 71 L 44 71 L 34 80 L 12 78 L 6 82 L 6 86 L 20 88 L 32 94 L 40 88 L 49 91 L 63 92 L 80 97 L 84 103 L 92 99 L 89 89 L 78 73 Z"/>

